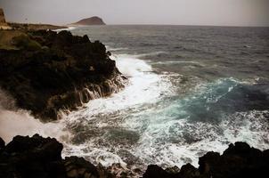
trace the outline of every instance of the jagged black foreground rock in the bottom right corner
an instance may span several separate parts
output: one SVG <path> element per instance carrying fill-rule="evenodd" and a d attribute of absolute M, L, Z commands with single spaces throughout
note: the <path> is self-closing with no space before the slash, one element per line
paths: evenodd
<path fill-rule="evenodd" d="M 223 155 L 208 152 L 199 159 L 199 169 L 191 164 L 182 166 L 179 173 L 169 173 L 159 166 L 148 166 L 143 177 L 159 178 L 237 178 L 267 177 L 269 150 L 250 148 L 245 142 L 230 144 Z"/>

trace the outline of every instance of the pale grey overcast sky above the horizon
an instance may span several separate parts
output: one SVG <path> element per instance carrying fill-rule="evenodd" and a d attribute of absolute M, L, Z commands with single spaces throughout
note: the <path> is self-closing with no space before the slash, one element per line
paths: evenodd
<path fill-rule="evenodd" d="M 64 25 L 91 16 L 107 24 L 269 26 L 269 0 L 0 0 L 6 20 Z"/>

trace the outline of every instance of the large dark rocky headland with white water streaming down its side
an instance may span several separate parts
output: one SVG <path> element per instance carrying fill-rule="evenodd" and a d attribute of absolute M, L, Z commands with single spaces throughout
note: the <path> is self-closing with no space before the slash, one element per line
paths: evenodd
<path fill-rule="evenodd" d="M 0 50 L 0 87 L 44 120 L 60 109 L 118 92 L 124 85 L 105 46 L 68 31 L 29 31 L 12 38 L 17 50 Z"/>

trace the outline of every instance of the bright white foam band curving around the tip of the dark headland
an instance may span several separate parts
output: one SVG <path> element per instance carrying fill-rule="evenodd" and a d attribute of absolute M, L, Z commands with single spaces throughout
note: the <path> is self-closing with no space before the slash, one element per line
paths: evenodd
<path fill-rule="evenodd" d="M 100 113 L 112 113 L 122 109 L 130 109 L 136 105 L 152 103 L 170 91 L 171 84 L 164 83 L 161 76 L 151 72 L 151 66 L 145 61 L 135 59 L 133 56 L 113 56 L 120 72 L 129 77 L 129 85 L 109 98 L 89 101 L 86 109 L 71 112 L 68 119 L 85 116 L 91 119 Z M 77 120 L 77 118 L 75 119 Z"/>

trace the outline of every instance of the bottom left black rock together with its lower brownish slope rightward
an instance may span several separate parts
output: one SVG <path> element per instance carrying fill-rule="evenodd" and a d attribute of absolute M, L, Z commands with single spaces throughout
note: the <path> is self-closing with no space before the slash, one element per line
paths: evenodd
<path fill-rule="evenodd" d="M 61 158 L 62 144 L 39 135 L 16 136 L 0 151 L 2 178 L 97 178 L 114 177 L 102 166 L 84 158 Z"/>

